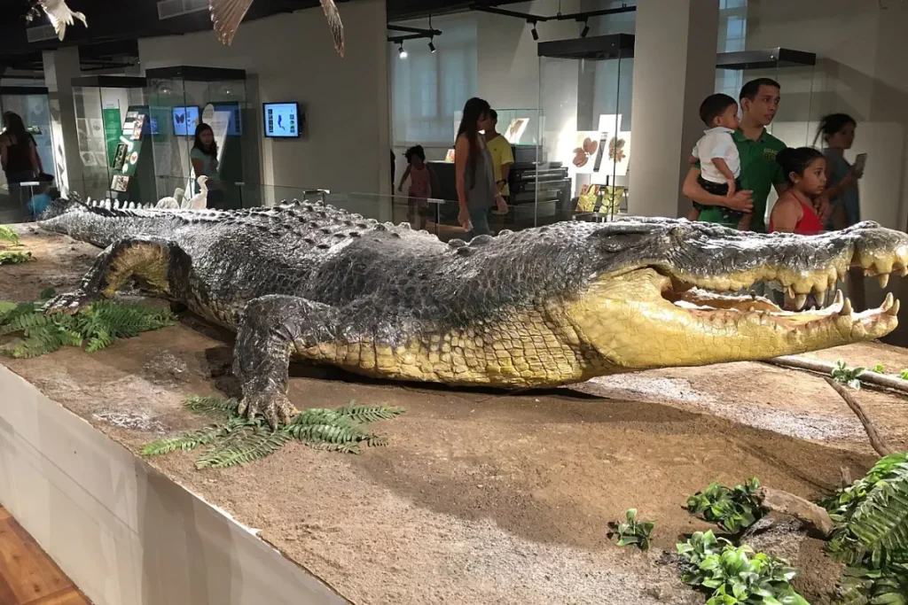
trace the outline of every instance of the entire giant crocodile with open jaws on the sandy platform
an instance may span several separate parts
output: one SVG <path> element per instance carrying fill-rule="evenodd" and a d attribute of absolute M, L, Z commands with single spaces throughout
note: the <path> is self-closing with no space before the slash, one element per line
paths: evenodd
<path fill-rule="evenodd" d="M 564 385 L 664 366 L 792 355 L 891 332 L 899 304 L 855 314 L 841 292 L 783 311 L 728 294 L 777 281 L 800 305 L 853 263 L 908 273 L 908 236 L 863 222 L 814 237 L 686 220 L 561 222 L 469 244 L 321 203 L 131 210 L 55 201 L 40 225 L 104 251 L 47 312 L 138 278 L 237 331 L 242 410 L 294 410 L 291 356 L 367 376 L 449 385 Z"/>

